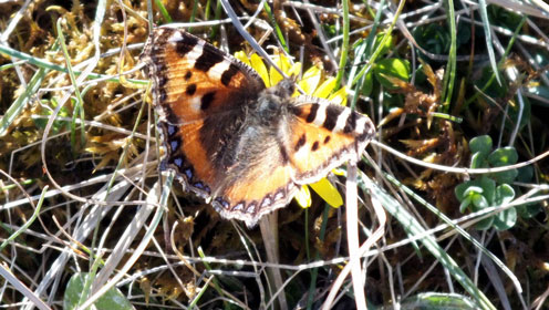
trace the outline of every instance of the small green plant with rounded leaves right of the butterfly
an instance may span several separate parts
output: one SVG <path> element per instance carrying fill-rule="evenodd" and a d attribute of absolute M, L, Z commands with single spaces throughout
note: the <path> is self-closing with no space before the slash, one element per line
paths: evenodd
<path fill-rule="evenodd" d="M 493 151 L 491 138 L 488 135 L 474 137 L 469 142 L 473 154 L 472 168 L 503 167 L 517 163 L 517 151 L 512 146 Z M 515 189 L 509 185 L 518 176 L 517 169 L 481 175 L 456 186 L 455 194 L 460 202 L 459 211 L 467 209 L 479 211 L 488 207 L 503 206 L 515 198 Z M 505 209 L 495 216 L 480 220 L 476 228 L 498 230 L 511 228 L 517 221 L 515 207 Z"/>

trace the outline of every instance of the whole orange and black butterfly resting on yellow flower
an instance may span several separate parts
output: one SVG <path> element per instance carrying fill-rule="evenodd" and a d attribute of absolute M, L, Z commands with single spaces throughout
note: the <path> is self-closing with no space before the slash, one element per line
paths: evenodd
<path fill-rule="evenodd" d="M 155 29 L 142 61 L 166 149 L 160 169 L 248 227 L 301 185 L 358 161 L 375 133 L 349 107 L 292 97 L 291 79 L 266 87 L 255 70 L 183 30 Z"/>

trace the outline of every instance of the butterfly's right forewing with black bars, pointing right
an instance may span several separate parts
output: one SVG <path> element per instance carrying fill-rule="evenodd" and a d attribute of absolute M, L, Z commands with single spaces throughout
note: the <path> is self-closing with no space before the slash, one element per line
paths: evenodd
<path fill-rule="evenodd" d="M 358 161 L 374 135 L 365 115 L 327 100 L 293 99 L 288 148 L 298 184 L 317 182 L 346 161 Z"/>

